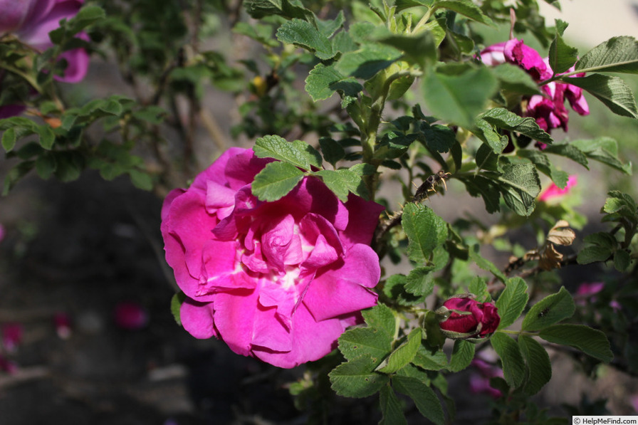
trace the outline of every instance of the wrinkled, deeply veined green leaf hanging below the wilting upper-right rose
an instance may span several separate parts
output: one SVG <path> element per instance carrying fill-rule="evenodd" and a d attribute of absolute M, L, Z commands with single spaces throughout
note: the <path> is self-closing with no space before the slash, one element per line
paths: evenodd
<path fill-rule="evenodd" d="M 540 193 L 540 179 L 534 164 L 513 163 L 503 166 L 501 194 L 507 206 L 519 216 L 529 216 L 534 211 L 534 200 Z"/>

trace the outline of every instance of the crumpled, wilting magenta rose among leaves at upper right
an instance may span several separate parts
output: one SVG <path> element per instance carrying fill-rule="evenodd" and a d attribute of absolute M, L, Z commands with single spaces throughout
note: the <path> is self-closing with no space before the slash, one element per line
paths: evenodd
<path fill-rule="evenodd" d="M 525 46 L 522 40 L 513 38 L 504 43 L 496 43 L 481 51 L 481 61 L 486 65 L 496 66 L 501 63 L 518 65 L 535 80 L 540 83 L 553 77 L 553 70 L 548 58 L 541 58 L 538 51 Z M 573 68 L 568 72 L 572 72 Z M 585 73 L 575 75 L 575 78 L 584 76 Z M 533 117 L 540 128 L 550 132 L 553 128 L 568 130 L 569 112 L 565 108 L 565 100 L 568 100 L 573 110 L 580 115 L 590 113 L 587 100 L 582 95 L 582 89 L 575 85 L 553 81 L 540 88 L 543 95 L 523 97 L 521 105 L 522 115 Z M 540 145 L 540 147 L 544 147 Z"/>

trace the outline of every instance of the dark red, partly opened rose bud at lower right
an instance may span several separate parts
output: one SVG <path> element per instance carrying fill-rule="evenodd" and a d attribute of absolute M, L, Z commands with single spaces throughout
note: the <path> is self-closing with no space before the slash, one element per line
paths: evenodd
<path fill-rule="evenodd" d="M 450 298 L 436 310 L 439 326 L 452 340 L 485 338 L 493 334 L 501 322 L 495 305 L 479 303 L 472 295 Z"/>

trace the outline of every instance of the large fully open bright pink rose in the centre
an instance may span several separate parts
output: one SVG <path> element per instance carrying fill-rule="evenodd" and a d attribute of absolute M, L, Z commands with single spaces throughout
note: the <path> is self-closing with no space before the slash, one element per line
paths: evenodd
<path fill-rule="evenodd" d="M 188 332 L 294 367 L 327 355 L 377 303 L 370 241 L 382 206 L 352 194 L 344 204 L 314 177 L 278 201 L 259 201 L 251 182 L 271 161 L 226 151 L 189 189 L 169 193 L 162 236 L 187 295 L 180 315 Z"/>

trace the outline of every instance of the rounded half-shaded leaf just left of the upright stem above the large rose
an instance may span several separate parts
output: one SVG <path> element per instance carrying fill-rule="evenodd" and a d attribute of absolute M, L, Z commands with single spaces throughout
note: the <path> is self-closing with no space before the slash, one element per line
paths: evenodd
<path fill-rule="evenodd" d="M 361 90 L 363 86 L 355 78 L 344 77 L 335 65 L 318 63 L 305 79 L 305 91 L 315 102 L 330 98 L 335 91 L 344 97 L 355 98 Z"/>

